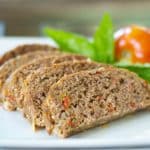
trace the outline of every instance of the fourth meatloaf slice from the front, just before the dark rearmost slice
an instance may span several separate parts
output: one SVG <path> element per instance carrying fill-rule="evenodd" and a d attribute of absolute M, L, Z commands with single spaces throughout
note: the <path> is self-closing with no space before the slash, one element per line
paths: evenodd
<path fill-rule="evenodd" d="M 19 55 L 15 58 L 12 58 L 8 61 L 6 61 L 1 67 L 0 67 L 0 92 L 3 88 L 3 85 L 7 78 L 11 75 L 12 72 L 14 72 L 17 68 L 20 66 L 29 63 L 32 60 L 43 58 L 51 55 L 60 55 L 60 52 L 58 51 L 35 51 L 30 52 L 27 54 Z M 2 101 L 2 97 L 0 94 L 0 101 Z"/>

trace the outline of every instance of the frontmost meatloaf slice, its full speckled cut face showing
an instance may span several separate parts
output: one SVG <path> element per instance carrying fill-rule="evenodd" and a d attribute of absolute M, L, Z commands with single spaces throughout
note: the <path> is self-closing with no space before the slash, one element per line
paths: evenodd
<path fill-rule="evenodd" d="M 148 84 L 118 68 L 83 71 L 61 78 L 47 97 L 49 132 L 68 137 L 150 106 Z"/>

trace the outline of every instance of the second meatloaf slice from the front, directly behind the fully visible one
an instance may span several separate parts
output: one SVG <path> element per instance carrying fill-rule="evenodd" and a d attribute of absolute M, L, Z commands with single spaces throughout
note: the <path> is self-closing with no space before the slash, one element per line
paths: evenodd
<path fill-rule="evenodd" d="M 23 113 L 32 123 L 33 128 L 45 126 L 42 105 L 52 84 L 64 75 L 101 66 L 105 65 L 89 61 L 65 62 L 41 68 L 28 76 L 24 87 Z"/>

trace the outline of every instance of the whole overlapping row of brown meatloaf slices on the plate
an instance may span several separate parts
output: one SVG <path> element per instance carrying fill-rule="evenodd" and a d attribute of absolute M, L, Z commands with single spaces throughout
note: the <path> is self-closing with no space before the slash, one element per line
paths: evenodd
<path fill-rule="evenodd" d="M 60 137 L 150 106 L 150 85 L 136 74 L 48 45 L 19 46 L 0 65 L 4 108 Z"/>

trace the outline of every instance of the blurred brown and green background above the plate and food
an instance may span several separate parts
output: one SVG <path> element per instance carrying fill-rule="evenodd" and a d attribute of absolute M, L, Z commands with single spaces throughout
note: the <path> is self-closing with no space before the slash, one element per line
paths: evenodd
<path fill-rule="evenodd" d="M 41 36 L 47 25 L 91 35 L 104 12 L 115 28 L 150 26 L 150 0 L 0 0 L 0 36 Z"/>

